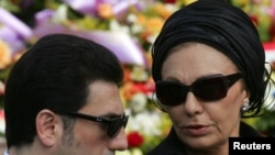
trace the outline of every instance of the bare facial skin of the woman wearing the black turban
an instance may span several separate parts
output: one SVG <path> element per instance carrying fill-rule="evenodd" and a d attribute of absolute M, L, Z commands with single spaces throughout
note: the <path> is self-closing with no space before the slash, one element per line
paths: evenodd
<path fill-rule="evenodd" d="M 168 55 L 163 64 L 162 78 L 189 86 L 202 77 L 238 71 L 235 65 L 216 48 L 186 43 Z M 228 137 L 239 136 L 240 109 L 248 99 L 244 82 L 239 79 L 222 99 L 204 101 L 188 91 L 185 101 L 178 106 L 165 106 L 165 109 L 177 135 L 191 148 L 228 147 Z"/>

